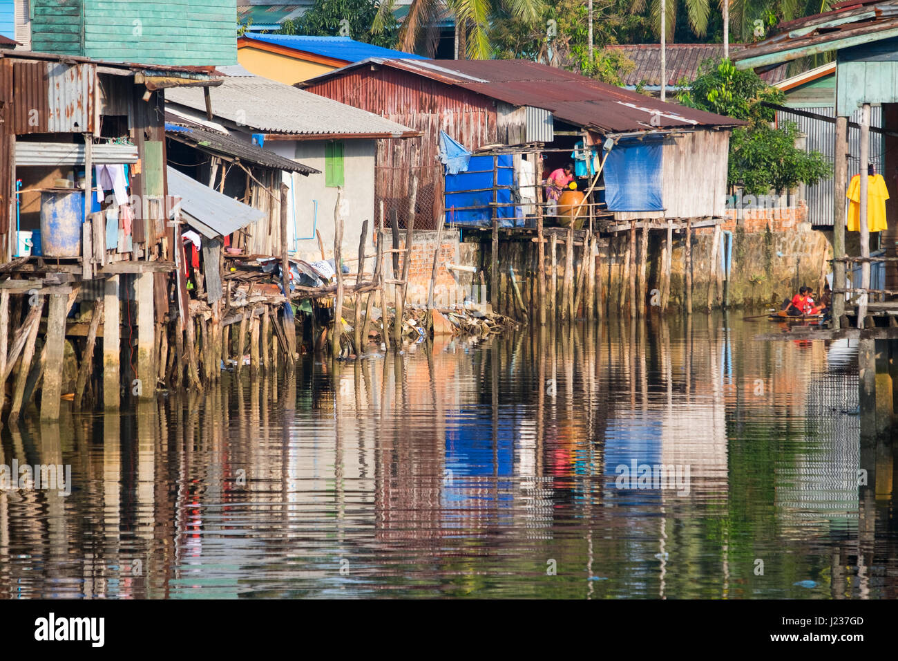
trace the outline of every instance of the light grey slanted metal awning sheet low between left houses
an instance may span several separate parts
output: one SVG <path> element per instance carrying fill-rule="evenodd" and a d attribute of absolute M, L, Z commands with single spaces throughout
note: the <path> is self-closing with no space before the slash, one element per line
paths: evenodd
<path fill-rule="evenodd" d="M 226 237 L 265 218 L 265 211 L 232 200 L 168 166 L 169 194 L 180 197 L 187 222 L 208 238 Z"/>

